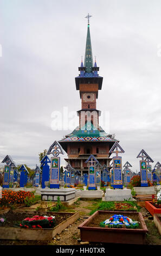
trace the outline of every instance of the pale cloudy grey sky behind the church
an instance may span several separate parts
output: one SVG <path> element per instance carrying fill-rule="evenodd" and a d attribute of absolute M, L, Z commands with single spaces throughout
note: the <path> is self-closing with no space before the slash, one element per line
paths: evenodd
<path fill-rule="evenodd" d="M 68 106 L 76 117 L 81 109 L 74 78 L 89 13 L 93 56 L 104 77 L 97 108 L 110 113 L 107 132 L 115 133 L 123 164 L 134 171 L 141 149 L 161 162 L 159 0 L 1 0 L 0 9 L 1 161 L 9 154 L 34 167 L 38 153 L 71 132 L 53 131 L 51 113 Z M 106 128 L 101 119 L 100 125 Z"/>

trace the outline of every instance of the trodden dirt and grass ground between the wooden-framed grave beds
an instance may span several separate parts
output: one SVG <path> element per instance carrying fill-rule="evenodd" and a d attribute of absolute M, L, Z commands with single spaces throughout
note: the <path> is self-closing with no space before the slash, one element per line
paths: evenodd
<path fill-rule="evenodd" d="M 27 240 L 0 240 L 0 245 L 80 245 L 80 230 L 78 226 L 87 220 L 87 218 L 91 215 L 92 210 L 96 210 L 101 200 L 78 200 L 73 205 L 67 207 L 63 212 L 78 212 L 80 217 L 76 220 L 73 224 L 69 225 L 68 228 L 62 231 L 59 235 L 57 234 L 53 240 L 50 241 L 27 241 Z M 108 202 L 111 203 L 111 202 Z M 123 203 L 123 202 L 121 202 Z M 126 202 L 127 203 L 127 202 Z M 158 233 L 156 226 L 154 225 L 153 220 L 149 220 L 149 212 L 145 208 L 137 208 L 143 214 L 145 223 L 149 232 L 145 237 L 145 244 L 146 245 L 161 245 L 161 236 Z M 90 242 L 89 245 L 101 245 L 101 243 L 92 243 Z"/>

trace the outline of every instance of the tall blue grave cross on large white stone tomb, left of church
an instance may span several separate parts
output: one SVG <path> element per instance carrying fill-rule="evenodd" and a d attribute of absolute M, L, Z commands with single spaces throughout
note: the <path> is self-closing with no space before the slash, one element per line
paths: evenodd
<path fill-rule="evenodd" d="M 53 154 L 50 161 L 50 188 L 59 188 L 60 180 L 60 154 L 63 154 L 63 149 L 59 142 L 55 141 L 49 148 L 47 155 Z"/>

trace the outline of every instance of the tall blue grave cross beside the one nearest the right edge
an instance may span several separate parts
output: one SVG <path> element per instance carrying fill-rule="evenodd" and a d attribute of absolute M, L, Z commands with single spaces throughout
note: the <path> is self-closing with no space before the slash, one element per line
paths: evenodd
<path fill-rule="evenodd" d="M 147 183 L 147 159 L 149 159 L 150 162 L 153 162 L 151 157 L 147 155 L 144 149 L 142 149 L 137 156 L 137 158 L 141 158 L 140 160 L 140 178 L 141 178 L 141 187 L 148 187 Z"/>

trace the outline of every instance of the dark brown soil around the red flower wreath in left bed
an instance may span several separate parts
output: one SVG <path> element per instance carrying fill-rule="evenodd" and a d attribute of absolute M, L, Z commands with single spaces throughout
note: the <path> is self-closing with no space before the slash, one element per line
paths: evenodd
<path fill-rule="evenodd" d="M 53 214 L 47 214 L 47 216 L 51 216 Z M 5 218 L 6 221 L 1 223 L 1 227 L 14 227 L 16 223 L 21 223 L 21 221 L 24 220 L 24 218 L 27 217 L 33 217 L 34 215 L 29 215 L 24 212 L 12 212 L 9 211 L 6 214 L 1 215 L 1 218 Z M 42 216 L 42 215 L 40 215 Z M 55 216 L 55 225 L 59 225 L 61 222 L 67 220 L 71 215 L 65 213 L 64 215 L 60 215 L 59 212 L 54 214 Z"/>

